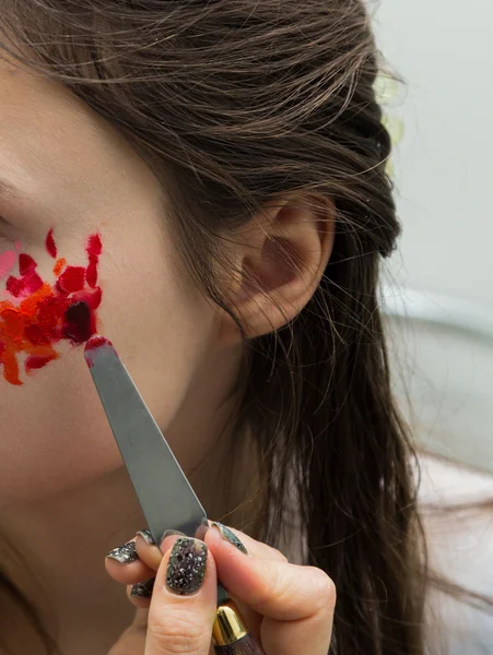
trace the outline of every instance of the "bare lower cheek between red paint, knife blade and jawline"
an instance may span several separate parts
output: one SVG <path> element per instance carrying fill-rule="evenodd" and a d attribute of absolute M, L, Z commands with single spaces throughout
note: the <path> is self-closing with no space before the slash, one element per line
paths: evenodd
<path fill-rule="evenodd" d="M 119 455 L 79 352 L 0 400 L 0 511 L 83 485 Z"/>

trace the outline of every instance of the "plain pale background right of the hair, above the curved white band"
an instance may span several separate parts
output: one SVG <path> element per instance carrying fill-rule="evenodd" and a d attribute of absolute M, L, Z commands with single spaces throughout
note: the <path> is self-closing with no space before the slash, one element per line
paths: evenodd
<path fill-rule="evenodd" d="M 493 302 L 493 2 L 380 0 L 377 40 L 404 78 L 389 108 L 410 286 Z M 493 305 L 492 305 L 493 308 Z"/>

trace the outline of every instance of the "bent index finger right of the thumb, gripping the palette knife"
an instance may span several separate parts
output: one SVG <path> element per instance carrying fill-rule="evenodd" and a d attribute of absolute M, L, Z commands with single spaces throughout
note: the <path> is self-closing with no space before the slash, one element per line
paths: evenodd
<path fill-rule="evenodd" d="M 230 594 L 265 617 L 268 655 L 327 654 L 336 588 L 324 571 L 244 555 L 215 529 L 208 531 L 208 546 Z"/>

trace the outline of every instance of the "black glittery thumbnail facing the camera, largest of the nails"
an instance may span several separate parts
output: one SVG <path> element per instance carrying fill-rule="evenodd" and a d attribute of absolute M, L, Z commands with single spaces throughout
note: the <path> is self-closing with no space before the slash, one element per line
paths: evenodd
<path fill-rule="evenodd" d="M 206 575 L 208 547 L 199 539 L 180 537 L 173 546 L 166 572 L 167 588 L 180 596 L 193 594 Z"/>

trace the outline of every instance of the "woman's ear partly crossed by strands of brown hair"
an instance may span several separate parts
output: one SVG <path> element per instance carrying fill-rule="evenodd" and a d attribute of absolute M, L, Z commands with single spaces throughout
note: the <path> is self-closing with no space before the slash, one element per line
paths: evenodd
<path fill-rule="evenodd" d="M 228 299 L 247 337 L 279 330 L 292 321 L 314 295 L 333 247 L 336 209 L 320 196 L 270 202 L 242 229 L 234 251 Z M 238 330 L 223 325 L 221 341 Z"/>

